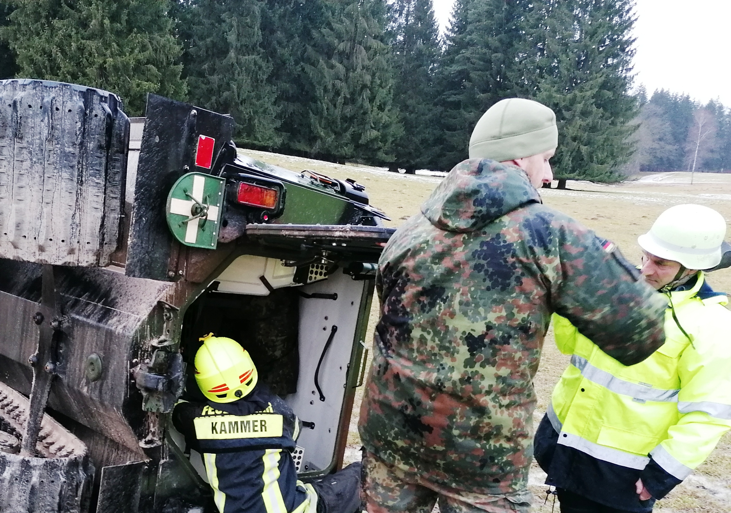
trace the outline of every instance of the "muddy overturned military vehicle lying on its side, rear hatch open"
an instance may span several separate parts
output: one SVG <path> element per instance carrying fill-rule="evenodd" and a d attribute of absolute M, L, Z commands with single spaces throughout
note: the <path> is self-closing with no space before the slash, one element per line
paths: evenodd
<path fill-rule="evenodd" d="M 392 232 L 363 187 L 238 155 L 231 117 L 160 96 L 132 122 L 78 85 L 0 100 L 0 511 L 207 511 L 169 414 L 209 332 L 305 421 L 300 476 L 337 468 Z"/>

